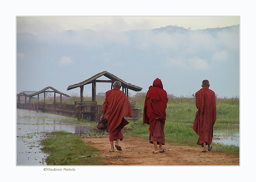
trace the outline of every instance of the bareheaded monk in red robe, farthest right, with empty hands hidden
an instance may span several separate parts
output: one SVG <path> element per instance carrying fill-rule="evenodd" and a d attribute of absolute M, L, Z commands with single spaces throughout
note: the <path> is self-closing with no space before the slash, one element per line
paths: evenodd
<path fill-rule="evenodd" d="M 196 92 L 196 118 L 193 124 L 193 130 L 198 134 L 198 145 L 204 147 L 202 152 L 206 152 L 213 148 L 213 126 L 216 121 L 216 97 L 214 91 L 209 89 L 209 81 L 203 80 L 202 89 Z"/>

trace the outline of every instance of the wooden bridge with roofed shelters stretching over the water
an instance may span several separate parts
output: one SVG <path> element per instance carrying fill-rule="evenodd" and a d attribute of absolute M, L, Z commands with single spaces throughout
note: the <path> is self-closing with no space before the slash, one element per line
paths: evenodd
<path fill-rule="evenodd" d="M 99 77 L 105 76 L 109 80 L 97 80 Z M 27 110 L 34 110 L 37 112 L 44 112 L 44 113 L 52 113 L 52 114 L 59 114 L 64 116 L 72 116 L 76 115 L 78 120 L 90 120 L 90 121 L 98 121 L 100 116 L 103 113 L 103 105 L 98 105 L 96 102 L 96 83 L 111 83 L 111 89 L 113 89 L 113 84 L 115 81 L 120 81 L 122 90 L 126 93 L 127 97 L 129 97 L 128 89 L 134 91 L 141 91 L 142 88 L 126 83 L 125 81 L 117 78 L 115 75 L 109 72 L 101 72 L 93 77 L 82 81 L 81 83 L 74 84 L 68 86 L 67 90 L 75 89 L 80 87 L 80 101 L 75 101 L 74 104 L 65 104 L 62 103 L 62 95 L 66 97 L 70 97 L 69 95 L 59 92 L 58 90 L 54 89 L 53 87 L 46 87 L 39 92 L 27 95 L 25 93 L 17 94 L 17 108 L 18 109 L 27 109 Z M 84 85 L 92 84 L 92 101 L 83 101 L 83 87 Z M 52 91 L 49 91 L 49 90 Z M 54 103 L 53 104 L 46 104 L 45 103 L 45 93 L 46 92 L 54 92 Z M 39 94 L 44 95 L 43 102 L 40 102 Z M 56 93 L 60 94 L 60 102 L 56 102 Z M 37 102 L 31 103 L 31 98 L 37 95 Z M 25 97 L 25 103 L 20 102 L 20 97 Z M 29 98 L 29 102 L 27 103 L 27 97 Z M 132 106 L 134 103 L 131 103 Z M 141 117 L 140 109 L 132 107 L 132 118 L 130 120 L 138 120 Z"/>

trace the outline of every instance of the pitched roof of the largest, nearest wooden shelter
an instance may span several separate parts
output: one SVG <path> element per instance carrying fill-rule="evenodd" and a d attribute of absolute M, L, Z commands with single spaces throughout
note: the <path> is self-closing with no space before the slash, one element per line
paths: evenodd
<path fill-rule="evenodd" d="M 109 72 L 107 72 L 107 71 L 98 73 L 98 74 L 94 75 L 93 77 L 91 77 L 91 78 L 89 78 L 89 79 L 87 79 L 87 80 L 85 80 L 85 81 L 82 81 L 82 82 L 80 82 L 80 83 L 77 83 L 77 84 L 74 84 L 74 85 L 70 85 L 70 86 L 68 86 L 67 90 L 75 89 L 75 88 L 77 88 L 77 87 L 90 84 L 90 83 L 92 83 L 93 80 L 96 80 L 97 78 L 99 78 L 99 77 L 101 77 L 101 76 L 103 76 L 103 75 L 104 75 L 105 77 L 109 78 L 111 82 L 120 81 L 123 87 L 127 87 L 127 88 L 130 89 L 130 90 L 133 90 L 133 91 L 136 91 L 136 92 L 142 90 L 141 87 L 136 86 L 136 85 L 132 85 L 132 84 L 130 84 L 130 83 L 126 83 L 126 82 L 123 81 L 122 79 L 116 77 L 114 74 L 111 74 L 111 73 L 109 73 Z M 96 81 L 97 81 L 97 80 L 96 80 Z M 104 82 L 104 81 L 100 81 L 100 80 L 99 80 L 98 82 Z"/>

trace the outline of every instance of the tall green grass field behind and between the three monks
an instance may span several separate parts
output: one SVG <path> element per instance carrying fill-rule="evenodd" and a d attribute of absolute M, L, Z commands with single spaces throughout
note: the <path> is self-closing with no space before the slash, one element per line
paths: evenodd
<path fill-rule="evenodd" d="M 63 99 L 66 104 L 73 104 L 80 100 L 79 96 L 71 96 Z M 91 101 L 90 97 L 84 97 L 85 101 Z M 97 104 L 103 104 L 105 97 L 96 97 Z M 143 113 L 145 96 L 129 97 L 130 101 L 136 101 L 136 108 Z M 53 102 L 47 100 L 46 102 Z M 236 129 L 239 130 L 239 98 L 217 98 L 217 117 L 214 129 Z M 165 121 L 165 141 L 173 145 L 196 146 L 198 135 L 193 131 L 192 126 L 197 108 L 195 98 L 169 98 L 166 109 Z M 149 125 L 142 125 L 142 118 L 136 122 L 130 121 L 124 128 L 125 134 L 142 136 L 144 139 L 149 137 Z M 213 144 L 215 150 L 225 153 L 239 155 L 239 147 Z"/>

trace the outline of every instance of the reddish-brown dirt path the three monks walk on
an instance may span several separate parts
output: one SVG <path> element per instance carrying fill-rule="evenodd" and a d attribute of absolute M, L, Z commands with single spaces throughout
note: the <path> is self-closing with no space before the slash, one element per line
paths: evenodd
<path fill-rule="evenodd" d="M 122 151 L 109 152 L 109 135 L 83 139 L 87 145 L 100 150 L 108 165 L 239 165 L 239 156 L 216 151 L 202 153 L 201 147 L 165 144 L 166 152 L 153 154 L 153 144 L 133 135 L 125 135 L 119 144 Z"/>

